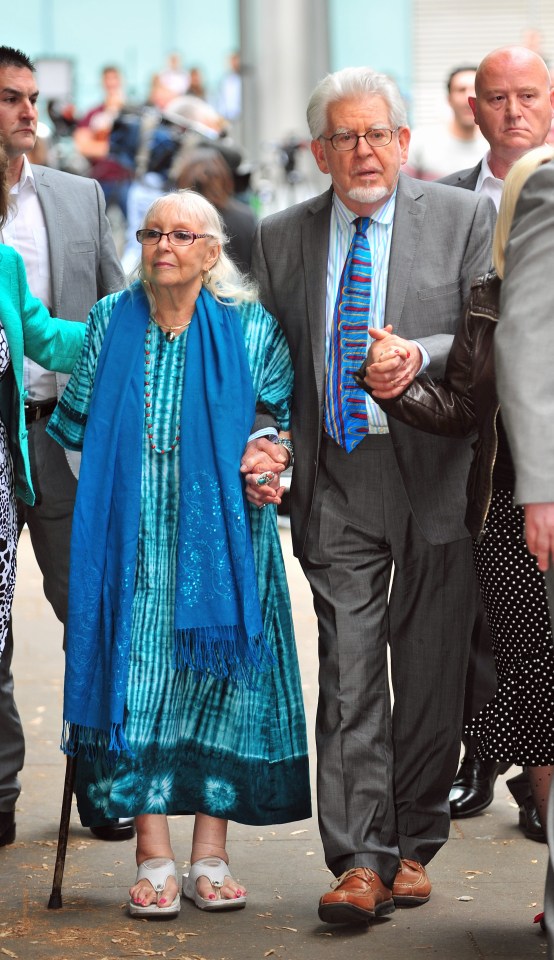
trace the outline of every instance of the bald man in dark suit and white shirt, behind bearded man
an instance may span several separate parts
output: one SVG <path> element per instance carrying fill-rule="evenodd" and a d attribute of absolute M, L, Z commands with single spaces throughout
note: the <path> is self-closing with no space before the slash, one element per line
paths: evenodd
<path fill-rule="evenodd" d="M 526 47 L 503 47 L 489 53 L 479 64 L 475 97 L 469 97 L 469 103 L 490 150 L 473 169 L 453 173 L 441 183 L 484 193 L 498 209 L 510 167 L 546 140 L 552 121 L 550 86 L 544 60 Z M 496 669 L 481 610 L 471 643 L 464 722 L 477 716 L 495 691 Z M 506 764 L 495 760 L 480 760 L 470 737 L 464 737 L 463 743 L 464 757 L 450 794 L 450 812 L 455 819 L 485 810 L 493 800 L 498 774 L 506 769 Z M 512 777 L 508 787 L 519 806 L 519 823 L 525 835 L 544 840 L 526 772 Z"/>

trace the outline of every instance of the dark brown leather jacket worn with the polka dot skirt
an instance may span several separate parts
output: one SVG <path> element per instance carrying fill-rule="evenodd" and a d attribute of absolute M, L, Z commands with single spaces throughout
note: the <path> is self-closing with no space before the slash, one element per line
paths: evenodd
<path fill-rule="evenodd" d="M 500 279 L 479 277 L 448 357 L 444 380 L 426 375 L 413 381 L 395 400 L 376 402 L 391 417 L 412 427 L 448 437 L 477 433 L 467 481 L 466 526 L 472 537 L 482 533 L 492 496 L 492 474 L 498 449 L 498 398 L 494 372 L 494 331 L 498 321 Z M 417 468 L 417 465 L 414 465 Z"/>

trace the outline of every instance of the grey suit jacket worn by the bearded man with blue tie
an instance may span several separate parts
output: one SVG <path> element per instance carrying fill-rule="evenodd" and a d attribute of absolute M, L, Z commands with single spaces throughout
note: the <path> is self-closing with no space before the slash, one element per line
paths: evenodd
<path fill-rule="evenodd" d="M 281 323 L 295 371 L 295 465 L 291 528 L 301 556 L 317 477 L 323 424 L 327 254 L 332 191 L 263 220 L 253 272 L 264 305 Z M 386 303 L 386 323 L 427 349 L 432 376 L 444 371 L 473 277 L 489 266 L 492 202 L 401 175 Z M 467 536 L 465 482 L 470 447 L 399 422 L 391 437 L 408 497 L 424 536 L 445 543 Z"/>

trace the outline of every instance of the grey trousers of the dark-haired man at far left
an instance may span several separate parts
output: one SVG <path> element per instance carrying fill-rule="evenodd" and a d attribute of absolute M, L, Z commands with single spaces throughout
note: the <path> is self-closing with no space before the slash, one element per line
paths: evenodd
<path fill-rule="evenodd" d="M 18 531 L 27 523 L 33 550 L 44 578 L 44 593 L 58 620 L 65 622 L 69 583 L 69 545 L 77 481 L 65 451 L 46 433 L 48 418 L 29 424 L 29 461 L 36 494 L 33 507 L 17 501 Z M 40 637 L 37 638 L 40 642 Z M 10 627 L 0 660 L 0 811 L 15 808 L 19 771 L 25 759 L 25 737 L 14 698 L 11 671 L 13 633 Z M 61 731 L 61 717 L 60 717 Z"/>

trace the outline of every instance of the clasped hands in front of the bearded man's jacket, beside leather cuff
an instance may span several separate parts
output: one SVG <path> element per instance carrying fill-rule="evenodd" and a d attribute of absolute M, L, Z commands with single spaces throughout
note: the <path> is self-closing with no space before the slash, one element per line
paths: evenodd
<path fill-rule="evenodd" d="M 375 397 L 392 400 L 404 392 L 421 367 L 421 351 L 413 340 L 403 340 L 387 324 L 382 330 L 369 328 L 373 338 L 365 382 Z"/>

